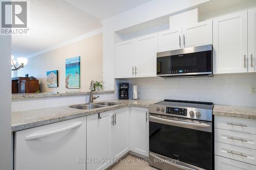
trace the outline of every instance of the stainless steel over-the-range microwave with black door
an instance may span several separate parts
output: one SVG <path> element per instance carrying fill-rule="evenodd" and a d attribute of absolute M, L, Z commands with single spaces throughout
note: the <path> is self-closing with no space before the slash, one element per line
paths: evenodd
<path fill-rule="evenodd" d="M 159 77 L 212 77 L 212 45 L 157 53 Z"/>

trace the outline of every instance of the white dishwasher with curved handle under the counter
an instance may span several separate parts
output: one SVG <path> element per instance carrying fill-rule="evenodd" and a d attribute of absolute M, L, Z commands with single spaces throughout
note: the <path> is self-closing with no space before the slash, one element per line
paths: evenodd
<path fill-rule="evenodd" d="M 14 170 L 85 170 L 86 117 L 15 132 Z"/>

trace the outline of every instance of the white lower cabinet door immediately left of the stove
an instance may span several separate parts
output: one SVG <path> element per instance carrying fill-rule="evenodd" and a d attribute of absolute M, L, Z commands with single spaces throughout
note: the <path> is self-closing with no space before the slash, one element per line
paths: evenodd
<path fill-rule="evenodd" d="M 141 107 L 131 107 L 131 151 L 148 156 L 149 147 L 149 127 L 148 109 Z"/>

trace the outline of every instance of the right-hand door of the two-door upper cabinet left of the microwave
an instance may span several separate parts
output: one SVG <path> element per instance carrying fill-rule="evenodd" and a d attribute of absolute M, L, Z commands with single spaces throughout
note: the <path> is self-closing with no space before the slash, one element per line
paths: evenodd
<path fill-rule="evenodd" d="M 157 34 L 136 40 L 136 77 L 155 77 L 157 67 Z"/>

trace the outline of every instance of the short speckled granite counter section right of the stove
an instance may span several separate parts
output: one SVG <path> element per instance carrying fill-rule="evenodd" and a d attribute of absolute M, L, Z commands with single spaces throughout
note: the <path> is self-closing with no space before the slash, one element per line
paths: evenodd
<path fill-rule="evenodd" d="M 256 119 L 256 107 L 214 105 L 213 114 Z"/>

